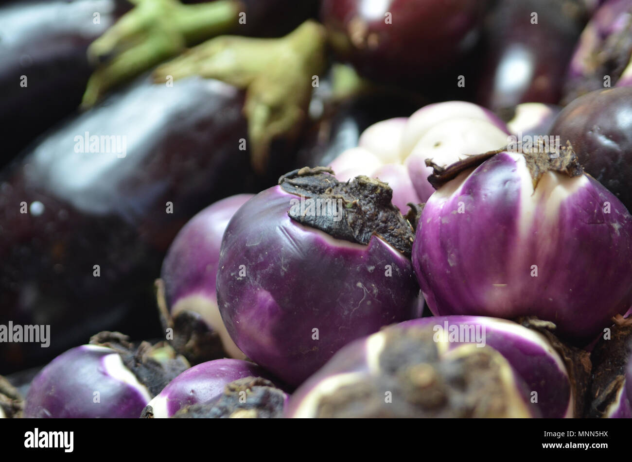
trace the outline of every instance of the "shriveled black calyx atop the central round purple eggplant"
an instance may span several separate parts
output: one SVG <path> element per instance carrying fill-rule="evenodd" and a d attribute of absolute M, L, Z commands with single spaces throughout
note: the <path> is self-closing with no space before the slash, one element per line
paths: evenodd
<path fill-rule="evenodd" d="M 391 187 L 363 175 L 340 182 L 333 173 L 326 167 L 304 167 L 279 179 L 286 193 L 299 196 L 288 211 L 290 218 L 358 244 L 368 244 L 376 234 L 410 258 L 415 235 L 391 203 Z"/>

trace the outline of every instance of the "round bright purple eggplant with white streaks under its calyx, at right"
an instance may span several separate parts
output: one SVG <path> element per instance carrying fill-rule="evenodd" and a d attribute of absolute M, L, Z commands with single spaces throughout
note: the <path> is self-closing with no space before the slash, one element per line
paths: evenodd
<path fill-rule="evenodd" d="M 590 341 L 629 309 L 632 216 L 571 149 L 544 147 L 435 170 L 413 244 L 435 316 L 536 316 Z"/>

